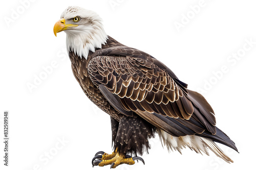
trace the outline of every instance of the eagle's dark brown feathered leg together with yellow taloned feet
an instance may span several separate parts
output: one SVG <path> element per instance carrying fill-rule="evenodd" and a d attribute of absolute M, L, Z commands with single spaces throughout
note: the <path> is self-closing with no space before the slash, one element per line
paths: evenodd
<path fill-rule="evenodd" d="M 112 154 L 97 152 L 92 160 L 93 166 L 111 165 L 111 168 L 115 168 L 123 163 L 132 165 L 135 160 L 144 163 L 137 154 L 142 155 L 143 151 L 147 152 L 150 149 L 148 139 L 154 137 L 155 128 L 137 115 L 133 117 L 123 115 L 119 121 L 111 117 L 111 128 L 115 150 Z"/>

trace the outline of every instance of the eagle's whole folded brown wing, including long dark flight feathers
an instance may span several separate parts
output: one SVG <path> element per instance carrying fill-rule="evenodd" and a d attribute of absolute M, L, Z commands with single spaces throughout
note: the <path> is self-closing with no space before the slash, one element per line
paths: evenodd
<path fill-rule="evenodd" d="M 88 73 L 105 98 L 120 112 L 137 113 L 174 136 L 216 134 L 214 111 L 195 91 L 153 57 L 97 56 Z"/>

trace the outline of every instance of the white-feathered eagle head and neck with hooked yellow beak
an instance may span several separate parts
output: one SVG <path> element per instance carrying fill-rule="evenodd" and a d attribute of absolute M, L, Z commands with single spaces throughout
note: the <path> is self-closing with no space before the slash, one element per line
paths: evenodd
<path fill-rule="evenodd" d="M 102 19 L 93 11 L 71 6 L 62 12 L 53 28 L 55 36 L 64 31 L 67 34 L 67 50 L 87 59 L 89 51 L 101 48 L 106 35 Z"/>

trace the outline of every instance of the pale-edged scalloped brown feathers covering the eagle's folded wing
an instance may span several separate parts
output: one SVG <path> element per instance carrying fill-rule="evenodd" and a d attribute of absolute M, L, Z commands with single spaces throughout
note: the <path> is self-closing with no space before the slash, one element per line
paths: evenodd
<path fill-rule="evenodd" d="M 105 75 L 113 77 L 113 72 L 115 72 L 121 78 L 119 81 L 106 82 L 108 79 L 102 74 L 101 67 L 109 68 L 106 70 L 108 74 Z M 183 95 L 183 91 L 180 90 L 174 79 L 148 60 L 138 60 L 138 58 L 130 56 L 97 56 L 89 62 L 88 71 L 93 83 L 108 84 L 105 87 L 111 93 L 119 96 L 121 103 L 124 103 L 124 100 L 126 103 L 128 101 L 132 103 L 132 108 L 127 105 L 129 107 L 125 108 L 127 110 L 134 110 L 135 106 L 139 111 L 147 112 L 147 114 L 158 113 L 170 117 L 178 115 L 182 119 L 189 119 L 194 112 L 193 104 L 186 95 Z M 106 71 L 104 70 L 104 72 Z M 136 79 L 137 77 L 140 78 Z M 143 100 L 145 102 L 142 102 Z M 169 105 L 168 107 L 172 105 L 174 109 L 168 110 L 165 105 Z"/>

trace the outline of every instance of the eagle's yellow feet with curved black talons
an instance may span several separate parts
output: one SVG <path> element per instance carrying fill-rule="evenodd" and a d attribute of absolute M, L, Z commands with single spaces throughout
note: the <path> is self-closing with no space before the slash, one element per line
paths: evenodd
<path fill-rule="evenodd" d="M 99 154 L 102 154 L 102 152 L 98 152 Z M 96 160 L 97 159 L 97 160 Z M 113 152 L 112 154 L 106 154 L 104 153 L 103 155 L 96 155 L 93 160 L 92 160 L 92 164 L 93 166 L 105 166 L 105 165 L 110 165 L 110 168 L 115 168 L 120 164 L 129 164 L 129 165 L 133 165 L 135 163 L 135 160 L 140 160 L 142 161 L 144 164 L 144 160 L 140 157 L 131 157 L 130 155 L 125 155 L 122 153 L 117 152 L 117 149 L 115 152 Z"/>

